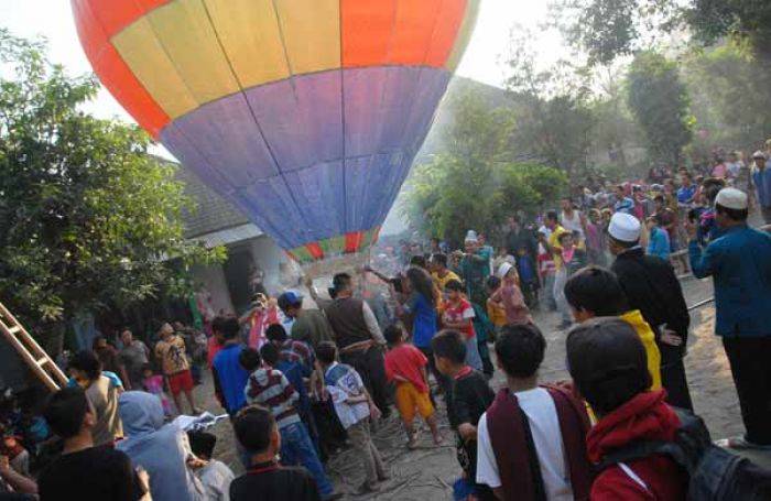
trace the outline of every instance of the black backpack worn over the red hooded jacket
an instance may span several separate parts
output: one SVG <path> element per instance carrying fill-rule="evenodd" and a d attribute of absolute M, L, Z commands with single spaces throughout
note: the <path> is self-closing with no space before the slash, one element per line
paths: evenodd
<path fill-rule="evenodd" d="M 631 444 L 604 458 L 598 471 L 619 462 L 663 454 L 688 473 L 687 499 L 691 501 L 771 500 L 771 470 L 717 447 L 701 417 L 682 409 L 674 411 L 681 422 L 674 442 Z"/>

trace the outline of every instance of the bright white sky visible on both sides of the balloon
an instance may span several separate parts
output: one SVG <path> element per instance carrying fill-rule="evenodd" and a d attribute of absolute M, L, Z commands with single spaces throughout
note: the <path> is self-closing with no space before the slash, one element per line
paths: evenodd
<path fill-rule="evenodd" d="M 457 74 L 486 84 L 501 86 L 503 72 L 499 65 L 506 53 L 512 26 L 535 28 L 547 15 L 545 0 L 482 0 L 477 28 Z M 17 36 L 45 36 L 48 56 L 72 75 L 90 72 L 75 31 L 68 0 L 0 0 L 0 26 Z M 537 41 L 540 53 L 546 59 L 561 53 L 558 37 L 546 33 Z M 118 117 L 133 121 L 120 105 L 102 89 L 88 111 L 101 118 Z"/>

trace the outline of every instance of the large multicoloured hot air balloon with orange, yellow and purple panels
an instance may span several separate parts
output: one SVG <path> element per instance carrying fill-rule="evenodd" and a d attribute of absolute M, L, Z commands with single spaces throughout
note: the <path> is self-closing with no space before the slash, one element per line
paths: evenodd
<path fill-rule="evenodd" d="M 101 83 L 301 264 L 361 255 L 479 0 L 72 0 Z"/>

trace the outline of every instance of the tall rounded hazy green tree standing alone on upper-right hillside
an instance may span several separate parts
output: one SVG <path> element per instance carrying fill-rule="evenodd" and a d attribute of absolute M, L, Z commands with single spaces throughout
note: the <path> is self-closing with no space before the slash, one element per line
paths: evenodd
<path fill-rule="evenodd" d="M 627 78 L 629 108 L 644 131 L 649 156 L 677 165 L 693 137 L 694 120 L 676 65 L 655 52 L 641 52 Z"/>

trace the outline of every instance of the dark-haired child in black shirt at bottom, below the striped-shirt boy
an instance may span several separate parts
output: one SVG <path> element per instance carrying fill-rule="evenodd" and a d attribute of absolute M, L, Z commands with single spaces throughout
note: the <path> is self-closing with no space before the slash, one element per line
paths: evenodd
<path fill-rule="evenodd" d="M 232 427 L 238 444 L 249 455 L 251 467 L 230 483 L 231 501 L 321 500 L 307 470 L 279 465 L 281 434 L 273 413 L 260 405 L 245 407 Z"/>

